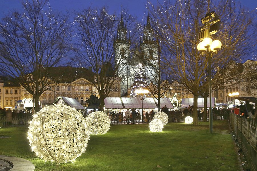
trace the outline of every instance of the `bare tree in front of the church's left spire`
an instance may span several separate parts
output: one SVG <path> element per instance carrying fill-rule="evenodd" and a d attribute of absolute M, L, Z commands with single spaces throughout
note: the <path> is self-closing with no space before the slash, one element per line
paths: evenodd
<path fill-rule="evenodd" d="M 132 29 L 128 34 L 127 28 L 135 27 L 136 23 L 130 15 L 123 18 L 122 13 L 121 19 L 117 19 L 114 14 L 109 15 L 105 7 L 89 7 L 76 13 L 76 16 L 78 59 L 74 62 L 91 68 L 95 73 L 91 76 L 91 82 L 98 91 L 100 106 L 103 107 L 104 99 L 121 84 L 121 78 L 117 75 L 126 73 L 122 66 L 127 64 L 132 48 L 131 39 L 136 34 Z"/>

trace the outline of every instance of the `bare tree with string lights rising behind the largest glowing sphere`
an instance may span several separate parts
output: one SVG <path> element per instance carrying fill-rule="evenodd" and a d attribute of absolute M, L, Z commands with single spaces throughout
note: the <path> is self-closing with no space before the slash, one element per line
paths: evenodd
<path fill-rule="evenodd" d="M 0 67 L 2 74 L 33 95 L 35 111 L 39 111 L 39 96 L 58 82 L 45 68 L 63 63 L 69 52 L 70 23 L 68 15 L 54 14 L 47 1 L 22 5 L 22 13 L 15 11 L 1 22 Z"/>

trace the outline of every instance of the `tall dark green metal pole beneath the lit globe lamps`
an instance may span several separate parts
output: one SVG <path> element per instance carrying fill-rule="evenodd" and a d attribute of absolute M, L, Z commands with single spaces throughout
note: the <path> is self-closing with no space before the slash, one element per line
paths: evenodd
<path fill-rule="evenodd" d="M 210 133 L 212 133 L 212 76 L 211 76 L 211 58 L 212 54 L 210 52 L 210 47 L 207 47 L 207 54 L 209 57 L 209 65 L 208 65 L 208 70 L 209 70 L 209 97 L 210 97 L 210 108 L 209 108 L 209 125 L 210 125 Z"/>

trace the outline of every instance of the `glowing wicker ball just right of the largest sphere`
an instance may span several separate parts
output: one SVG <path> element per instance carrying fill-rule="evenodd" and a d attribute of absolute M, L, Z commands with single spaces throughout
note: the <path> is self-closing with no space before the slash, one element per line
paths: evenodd
<path fill-rule="evenodd" d="M 110 128 L 108 115 L 101 111 L 95 111 L 87 117 L 88 131 L 92 135 L 105 134 Z"/>

